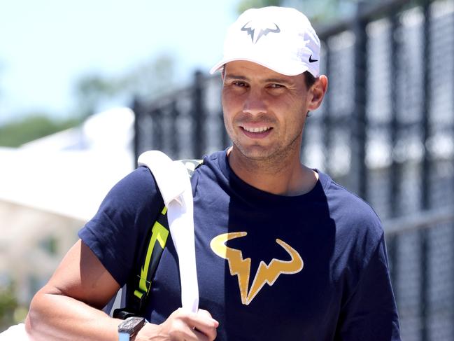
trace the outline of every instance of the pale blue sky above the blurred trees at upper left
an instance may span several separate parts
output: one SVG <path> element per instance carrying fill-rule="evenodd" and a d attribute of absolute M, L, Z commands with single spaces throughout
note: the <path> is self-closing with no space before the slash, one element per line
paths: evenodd
<path fill-rule="evenodd" d="M 195 68 L 208 72 L 238 2 L 0 0 L 0 123 L 67 113 L 81 74 L 121 74 L 163 53 L 182 83 Z"/>

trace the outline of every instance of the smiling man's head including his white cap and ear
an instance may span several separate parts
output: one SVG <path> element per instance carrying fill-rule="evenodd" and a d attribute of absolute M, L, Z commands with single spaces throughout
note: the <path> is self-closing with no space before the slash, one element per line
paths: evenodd
<path fill-rule="evenodd" d="M 255 160 L 299 160 L 308 111 L 320 106 L 327 78 L 319 75 L 320 41 L 292 8 L 243 13 L 229 28 L 222 71 L 224 122 L 232 154 Z"/>

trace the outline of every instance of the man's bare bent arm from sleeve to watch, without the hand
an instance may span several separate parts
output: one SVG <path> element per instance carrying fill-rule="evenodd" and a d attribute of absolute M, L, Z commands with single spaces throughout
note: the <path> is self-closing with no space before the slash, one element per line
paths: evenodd
<path fill-rule="evenodd" d="M 120 286 L 80 240 L 31 301 L 32 340 L 115 340 L 119 321 L 99 309 Z"/>

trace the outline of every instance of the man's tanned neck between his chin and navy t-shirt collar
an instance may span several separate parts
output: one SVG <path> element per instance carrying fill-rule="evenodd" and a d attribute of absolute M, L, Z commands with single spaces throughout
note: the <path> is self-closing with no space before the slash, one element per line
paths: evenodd
<path fill-rule="evenodd" d="M 229 165 L 239 178 L 264 192 L 295 196 L 313 189 L 318 173 L 302 165 L 299 155 L 286 155 L 278 160 L 251 160 L 230 148 Z"/>

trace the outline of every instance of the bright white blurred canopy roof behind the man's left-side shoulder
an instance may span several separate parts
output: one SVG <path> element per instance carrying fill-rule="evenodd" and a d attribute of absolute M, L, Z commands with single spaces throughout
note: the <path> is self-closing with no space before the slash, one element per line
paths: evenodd
<path fill-rule="evenodd" d="M 0 200 L 88 220 L 108 190 L 134 166 L 134 114 L 115 109 L 76 128 L 0 148 Z"/>

